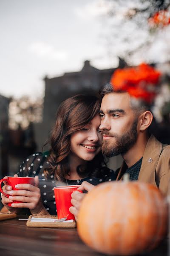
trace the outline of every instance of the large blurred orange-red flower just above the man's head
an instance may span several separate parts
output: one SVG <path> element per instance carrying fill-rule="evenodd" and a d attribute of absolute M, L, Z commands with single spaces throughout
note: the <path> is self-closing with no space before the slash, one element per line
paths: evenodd
<path fill-rule="evenodd" d="M 117 69 L 111 84 L 116 91 L 127 91 L 131 96 L 152 102 L 156 96 L 156 84 L 161 73 L 147 64 L 137 67 Z"/>

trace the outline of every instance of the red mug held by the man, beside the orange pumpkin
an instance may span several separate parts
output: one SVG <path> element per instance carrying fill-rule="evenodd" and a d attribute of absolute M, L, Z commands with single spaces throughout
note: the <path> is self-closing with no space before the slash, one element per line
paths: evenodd
<path fill-rule="evenodd" d="M 59 219 L 67 217 L 67 220 L 75 220 L 74 215 L 69 211 L 69 208 L 73 206 L 71 204 L 71 194 L 77 190 L 79 186 L 80 185 L 54 187 L 57 215 Z M 79 190 L 79 192 L 82 191 Z"/>

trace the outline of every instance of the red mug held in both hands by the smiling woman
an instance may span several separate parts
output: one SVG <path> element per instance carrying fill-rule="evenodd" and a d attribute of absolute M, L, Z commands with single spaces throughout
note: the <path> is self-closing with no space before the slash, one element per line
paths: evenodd
<path fill-rule="evenodd" d="M 7 197 L 9 197 L 10 195 L 6 194 L 3 189 L 1 188 L 1 183 L 3 181 L 7 182 L 7 185 L 11 186 L 13 190 L 20 190 L 20 189 L 16 189 L 15 186 L 17 184 L 31 184 L 34 186 L 34 177 L 10 177 L 8 176 L 8 179 L 2 179 L 0 180 L 0 192 L 3 193 L 3 195 L 6 195 Z M 11 203 L 8 203 L 8 206 L 11 206 L 11 204 L 17 204 L 17 203 L 21 203 L 20 201 L 13 201 Z"/>

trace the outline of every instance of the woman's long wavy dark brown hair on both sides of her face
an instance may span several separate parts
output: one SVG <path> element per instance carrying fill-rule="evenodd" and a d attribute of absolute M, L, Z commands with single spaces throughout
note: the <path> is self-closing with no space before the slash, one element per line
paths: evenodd
<path fill-rule="evenodd" d="M 76 95 L 62 102 L 49 140 L 50 167 L 44 170 L 45 177 L 54 175 L 55 180 L 64 181 L 65 176 L 69 175 L 68 154 L 71 151 L 71 135 L 85 127 L 99 114 L 99 109 L 98 98 L 88 94 Z M 106 159 L 101 151 L 93 160 L 87 161 L 86 166 L 77 166 L 80 177 L 104 177 L 108 172 Z"/>

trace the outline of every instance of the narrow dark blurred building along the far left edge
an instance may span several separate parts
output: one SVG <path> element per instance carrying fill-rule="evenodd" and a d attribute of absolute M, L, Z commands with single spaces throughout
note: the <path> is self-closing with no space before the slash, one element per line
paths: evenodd
<path fill-rule="evenodd" d="M 0 178 L 8 172 L 8 107 L 10 99 L 0 95 Z"/>

